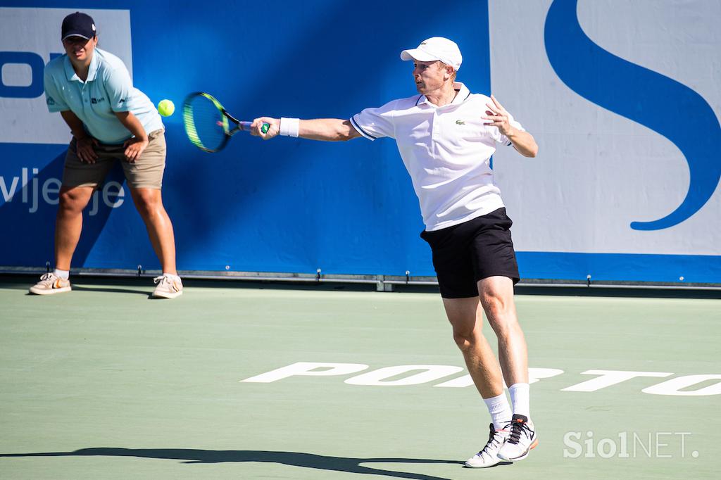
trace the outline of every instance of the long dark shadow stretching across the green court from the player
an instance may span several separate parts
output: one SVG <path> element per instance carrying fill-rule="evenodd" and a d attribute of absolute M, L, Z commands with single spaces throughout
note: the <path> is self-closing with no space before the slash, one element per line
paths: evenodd
<path fill-rule="evenodd" d="M 318 470 L 342 471 L 350 474 L 383 475 L 396 479 L 414 480 L 451 480 L 440 476 L 412 474 L 392 471 L 384 468 L 364 466 L 363 463 L 450 463 L 463 464 L 452 460 L 427 460 L 422 458 L 347 458 L 316 455 L 301 452 L 273 452 L 265 450 L 198 450 L 186 448 L 82 448 L 74 452 L 46 453 L 0 453 L 3 457 L 64 457 L 104 455 L 112 457 L 159 458 L 164 460 L 182 460 L 183 463 L 224 463 L 224 462 L 260 462 L 280 463 L 282 465 L 316 468 Z"/>

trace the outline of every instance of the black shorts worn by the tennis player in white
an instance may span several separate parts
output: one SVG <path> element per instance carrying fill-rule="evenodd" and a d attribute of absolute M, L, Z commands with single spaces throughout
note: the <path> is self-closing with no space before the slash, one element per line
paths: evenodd
<path fill-rule="evenodd" d="M 513 221 L 499 208 L 464 223 L 423 231 L 420 238 L 433 251 L 433 268 L 443 298 L 478 295 L 478 280 L 500 275 L 518 283 L 518 263 L 510 226 Z"/>

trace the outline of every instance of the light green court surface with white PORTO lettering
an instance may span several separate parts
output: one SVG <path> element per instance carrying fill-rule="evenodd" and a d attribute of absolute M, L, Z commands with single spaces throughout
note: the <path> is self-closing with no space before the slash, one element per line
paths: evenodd
<path fill-rule="evenodd" d="M 719 300 L 517 295 L 540 444 L 476 470 L 490 417 L 441 386 L 466 372 L 437 294 L 75 280 L 0 281 L 2 479 L 719 477 Z M 358 371 L 244 381 L 296 363 Z"/>

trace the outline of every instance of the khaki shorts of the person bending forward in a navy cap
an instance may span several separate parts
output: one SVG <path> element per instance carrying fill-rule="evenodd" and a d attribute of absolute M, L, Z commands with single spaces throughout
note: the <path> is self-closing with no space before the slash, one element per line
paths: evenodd
<path fill-rule="evenodd" d="M 76 140 L 70 142 L 65 156 L 63 185 L 66 187 L 97 187 L 110 172 L 115 161 L 119 160 L 131 188 L 156 188 L 163 184 L 165 169 L 165 130 L 155 130 L 148 135 L 148 146 L 143 154 L 132 164 L 125 160 L 125 148 L 120 145 L 94 145 L 97 154 L 94 164 L 86 164 L 78 158 Z"/>

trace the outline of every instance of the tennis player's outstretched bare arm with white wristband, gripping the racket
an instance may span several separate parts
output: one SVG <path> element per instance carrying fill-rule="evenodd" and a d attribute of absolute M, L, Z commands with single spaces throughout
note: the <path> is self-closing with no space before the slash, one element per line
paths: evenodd
<path fill-rule="evenodd" d="M 266 133 L 262 133 L 260 130 L 263 123 L 270 125 Z M 263 140 L 269 140 L 276 135 L 288 135 L 328 142 L 347 141 L 361 136 L 358 130 L 350 125 L 349 120 L 340 120 L 340 118 L 298 120 L 297 118 L 260 117 L 253 120 L 250 133 Z"/>

